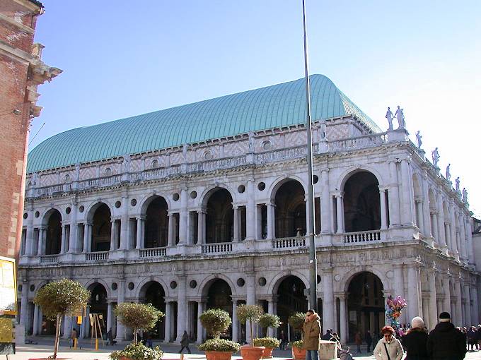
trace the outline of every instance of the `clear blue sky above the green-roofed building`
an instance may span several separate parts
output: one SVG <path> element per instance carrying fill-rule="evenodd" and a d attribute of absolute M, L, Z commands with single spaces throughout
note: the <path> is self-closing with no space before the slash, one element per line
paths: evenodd
<path fill-rule="evenodd" d="M 311 73 L 387 128 L 405 109 L 427 155 L 481 215 L 481 1 L 306 0 Z M 30 145 L 69 128 L 303 77 L 300 0 L 45 0 L 35 40 L 64 72 L 42 85 Z"/>

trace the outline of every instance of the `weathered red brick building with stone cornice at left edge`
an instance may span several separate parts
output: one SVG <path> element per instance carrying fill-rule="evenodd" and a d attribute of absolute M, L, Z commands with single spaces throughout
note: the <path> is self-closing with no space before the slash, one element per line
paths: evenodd
<path fill-rule="evenodd" d="M 16 257 L 22 232 L 23 193 L 30 121 L 40 115 L 37 85 L 62 71 L 42 62 L 34 44 L 42 3 L 0 1 L 0 255 Z"/>

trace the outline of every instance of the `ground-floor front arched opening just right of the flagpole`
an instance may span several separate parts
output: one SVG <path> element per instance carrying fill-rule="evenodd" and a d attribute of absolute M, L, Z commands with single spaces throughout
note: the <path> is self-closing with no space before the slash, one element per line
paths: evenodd
<path fill-rule="evenodd" d="M 383 327 L 383 283 L 372 272 L 360 272 L 349 282 L 347 290 L 347 321 L 349 341 L 354 342 L 357 332 L 364 339 L 369 330 L 373 338 Z"/>

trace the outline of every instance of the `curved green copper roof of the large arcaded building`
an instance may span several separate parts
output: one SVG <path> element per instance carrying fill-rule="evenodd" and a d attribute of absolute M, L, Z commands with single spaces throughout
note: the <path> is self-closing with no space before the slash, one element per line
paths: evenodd
<path fill-rule="evenodd" d="M 373 132 L 381 132 L 329 78 L 312 75 L 310 80 L 313 121 L 352 114 Z M 306 92 L 301 78 L 59 133 L 30 152 L 27 172 L 303 124 L 305 121 Z"/>

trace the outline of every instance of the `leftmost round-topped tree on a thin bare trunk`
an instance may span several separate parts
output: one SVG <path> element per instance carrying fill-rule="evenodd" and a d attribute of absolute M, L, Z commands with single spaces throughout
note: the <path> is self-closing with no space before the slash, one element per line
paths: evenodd
<path fill-rule="evenodd" d="M 57 359 L 59 350 L 62 316 L 74 316 L 87 306 L 90 297 L 91 293 L 80 282 L 69 279 L 50 282 L 35 295 L 33 302 L 40 306 L 43 315 L 56 320 L 53 359 Z"/>

